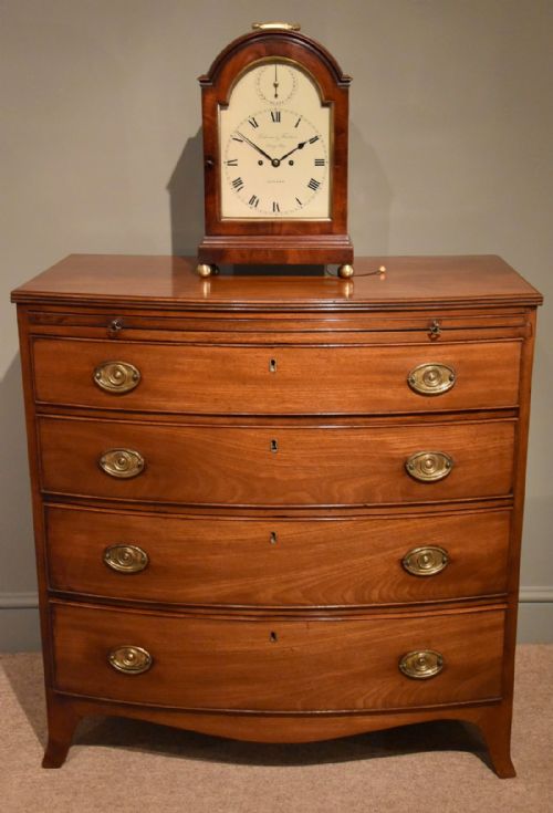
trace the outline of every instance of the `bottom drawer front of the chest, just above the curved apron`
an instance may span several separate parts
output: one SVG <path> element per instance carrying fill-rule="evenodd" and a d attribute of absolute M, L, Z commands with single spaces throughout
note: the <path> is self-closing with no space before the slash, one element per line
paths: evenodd
<path fill-rule="evenodd" d="M 52 612 L 55 688 L 77 695 L 274 711 L 410 708 L 501 695 L 501 609 L 355 621 L 222 621 L 63 604 Z M 146 671 L 109 664 L 112 654 L 128 666 L 126 647 L 150 657 Z M 416 650 L 441 655 L 441 671 L 404 675 L 399 661 Z"/>

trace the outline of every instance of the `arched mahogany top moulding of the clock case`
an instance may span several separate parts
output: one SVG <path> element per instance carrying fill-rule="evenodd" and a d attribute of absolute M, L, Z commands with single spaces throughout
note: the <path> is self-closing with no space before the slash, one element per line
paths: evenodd
<path fill-rule="evenodd" d="M 213 60 L 208 73 L 199 77 L 202 91 L 213 88 L 218 104 L 228 104 L 237 81 L 254 63 L 286 59 L 304 67 L 319 85 L 322 101 L 332 102 L 340 91 L 347 92 L 351 77 L 319 42 L 298 31 L 261 30 L 239 37 Z"/>

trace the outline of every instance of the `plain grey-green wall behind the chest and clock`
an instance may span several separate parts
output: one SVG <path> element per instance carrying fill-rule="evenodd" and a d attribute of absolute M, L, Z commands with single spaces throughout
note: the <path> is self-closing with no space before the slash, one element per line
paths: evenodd
<path fill-rule="evenodd" d="M 539 319 L 520 637 L 553 640 L 553 3 L 282 0 L 354 77 L 357 254 L 498 253 Z M 194 253 L 197 76 L 267 0 L 0 3 L 0 649 L 39 646 L 15 309 L 70 252 Z M 483 465 L 493 466 L 493 461 Z"/>

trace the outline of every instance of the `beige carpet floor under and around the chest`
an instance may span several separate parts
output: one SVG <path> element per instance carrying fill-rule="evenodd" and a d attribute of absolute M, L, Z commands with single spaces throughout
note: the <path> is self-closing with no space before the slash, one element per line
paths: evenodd
<path fill-rule="evenodd" d="M 458 722 L 267 746 L 87 719 L 49 771 L 44 741 L 40 655 L 0 656 L 2 813 L 553 813 L 553 645 L 517 650 L 517 779 Z"/>

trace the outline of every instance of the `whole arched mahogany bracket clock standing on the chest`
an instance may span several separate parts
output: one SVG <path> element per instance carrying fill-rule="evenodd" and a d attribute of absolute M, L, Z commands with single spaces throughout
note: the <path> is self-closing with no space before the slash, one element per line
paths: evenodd
<path fill-rule="evenodd" d="M 335 59 L 293 27 L 260 24 L 200 77 L 206 236 L 217 263 L 340 265 L 347 234 L 348 86 Z"/>

